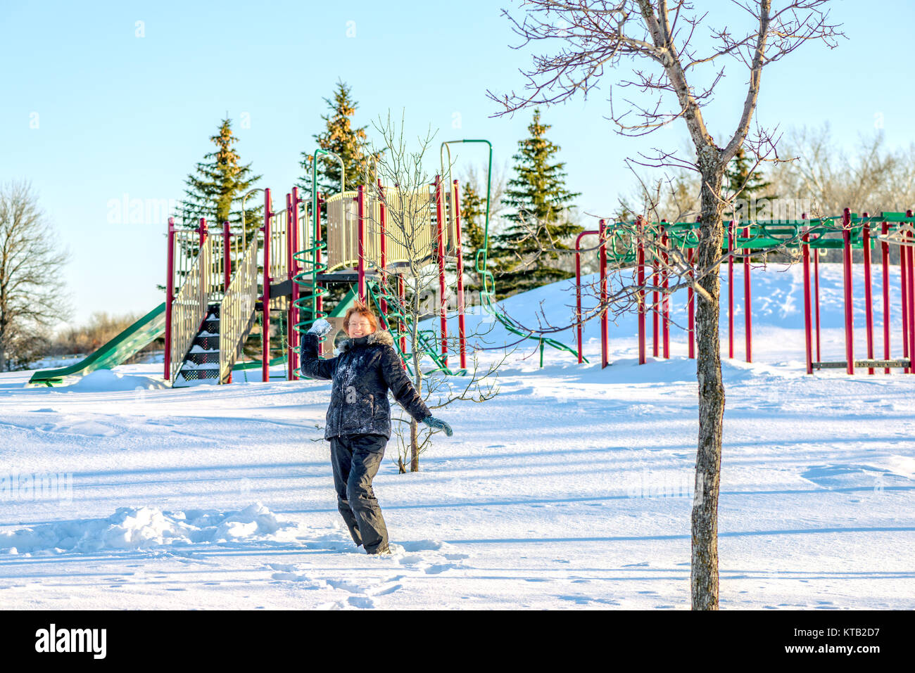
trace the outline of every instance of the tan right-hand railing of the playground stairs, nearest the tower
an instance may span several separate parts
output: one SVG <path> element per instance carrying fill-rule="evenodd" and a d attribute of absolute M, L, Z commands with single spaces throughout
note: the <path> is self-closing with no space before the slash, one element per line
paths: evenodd
<path fill-rule="evenodd" d="M 220 381 L 226 382 L 231 367 L 241 355 L 242 339 L 255 318 L 257 303 L 257 239 L 248 244 L 248 250 L 235 270 L 229 288 L 222 297 L 220 307 Z"/>

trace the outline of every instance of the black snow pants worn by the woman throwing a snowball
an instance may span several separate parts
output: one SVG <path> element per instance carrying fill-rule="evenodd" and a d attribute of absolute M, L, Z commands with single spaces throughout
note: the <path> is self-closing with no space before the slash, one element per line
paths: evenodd
<path fill-rule="evenodd" d="M 330 438 L 337 507 L 352 541 L 370 554 L 388 550 L 388 529 L 371 490 L 388 438 L 383 434 L 350 434 Z"/>

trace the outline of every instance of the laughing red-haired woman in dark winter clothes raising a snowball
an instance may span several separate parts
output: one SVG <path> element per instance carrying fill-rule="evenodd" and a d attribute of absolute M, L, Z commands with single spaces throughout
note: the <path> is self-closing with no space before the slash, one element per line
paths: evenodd
<path fill-rule="evenodd" d="M 318 320 L 302 339 L 302 374 L 312 379 L 332 379 L 324 438 L 330 441 L 337 506 L 357 546 L 370 554 L 390 553 L 388 530 L 381 507 L 371 490 L 371 480 L 391 438 L 388 390 L 417 422 L 451 428 L 433 418 L 416 392 L 393 349 L 393 337 L 378 329 L 371 310 L 357 304 L 347 311 L 343 329 L 349 338 L 339 344 L 336 358 L 318 358 L 318 341 L 330 331 Z"/>

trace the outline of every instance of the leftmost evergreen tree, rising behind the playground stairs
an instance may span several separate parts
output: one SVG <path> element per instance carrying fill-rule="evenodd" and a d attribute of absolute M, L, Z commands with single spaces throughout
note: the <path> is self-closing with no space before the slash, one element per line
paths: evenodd
<path fill-rule="evenodd" d="M 229 221 L 233 228 L 242 226 L 242 201 L 244 194 L 261 179 L 252 174 L 251 164 L 242 165 L 241 157 L 233 145 L 238 138 L 232 134 L 231 121 L 223 119 L 219 133 L 210 136 L 216 151 L 204 156 L 197 165 L 197 173 L 185 181 L 185 198 L 178 204 L 176 219 L 184 227 L 194 229 L 200 218 L 206 218 L 210 229 L 221 229 Z M 245 229 L 248 240 L 264 224 L 264 198 L 252 195 L 245 201 Z"/>

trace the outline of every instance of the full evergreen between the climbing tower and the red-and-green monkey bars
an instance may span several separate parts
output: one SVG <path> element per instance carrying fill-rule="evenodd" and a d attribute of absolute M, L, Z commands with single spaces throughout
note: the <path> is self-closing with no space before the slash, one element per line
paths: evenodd
<path fill-rule="evenodd" d="M 568 220 L 571 202 L 580 195 L 565 188 L 565 163 L 552 163 L 560 148 L 546 139 L 551 127 L 541 123 L 540 110 L 533 111 L 527 128 L 530 136 L 518 143 L 519 152 L 512 157 L 515 176 L 502 199 L 513 210 L 505 216 L 509 227 L 491 237 L 497 299 L 574 275 L 558 268 L 555 251 L 531 260 L 541 248 L 570 250 L 565 241 L 582 231 Z"/>

